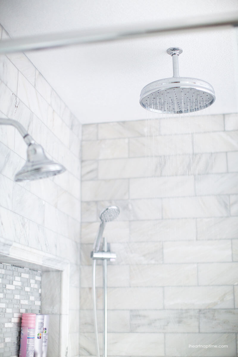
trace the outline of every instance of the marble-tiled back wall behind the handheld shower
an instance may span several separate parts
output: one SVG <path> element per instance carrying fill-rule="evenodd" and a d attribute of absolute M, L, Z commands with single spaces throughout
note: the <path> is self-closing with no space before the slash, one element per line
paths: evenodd
<path fill-rule="evenodd" d="M 90 252 L 104 235 L 108 356 L 237 356 L 237 114 L 82 127 L 80 353 L 95 356 Z M 102 348 L 102 266 L 97 307 Z M 226 345 L 227 347 L 189 347 Z"/>

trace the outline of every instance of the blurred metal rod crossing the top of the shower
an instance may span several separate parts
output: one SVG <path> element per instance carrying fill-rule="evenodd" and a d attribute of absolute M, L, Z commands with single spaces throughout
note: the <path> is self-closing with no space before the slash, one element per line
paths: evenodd
<path fill-rule="evenodd" d="M 111 27 L 4 40 L 0 42 L 0 54 L 132 39 L 157 35 L 163 32 L 204 29 L 215 26 L 238 26 L 238 12 L 175 19 L 172 21 L 163 21 L 159 24 L 154 23 L 153 25 Z"/>

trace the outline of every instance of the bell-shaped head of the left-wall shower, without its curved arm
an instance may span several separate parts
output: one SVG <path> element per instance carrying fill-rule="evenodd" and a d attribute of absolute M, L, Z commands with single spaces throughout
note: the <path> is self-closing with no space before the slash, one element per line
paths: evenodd
<path fill-rule="evenodd" d="M 15 175 L 15 181 L 32 181 L 61 174 L 66 169 L 61 164 L 48 159 L 41 145 L 27 147 L 27 161 Z"/>

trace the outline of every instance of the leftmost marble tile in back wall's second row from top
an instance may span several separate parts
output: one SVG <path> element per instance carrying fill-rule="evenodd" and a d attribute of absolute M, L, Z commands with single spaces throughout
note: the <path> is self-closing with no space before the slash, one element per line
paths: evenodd
<path fill-rule="evenodd" d="M 82 160 L 128 157 L 128 139 L 82 141 Z"/>

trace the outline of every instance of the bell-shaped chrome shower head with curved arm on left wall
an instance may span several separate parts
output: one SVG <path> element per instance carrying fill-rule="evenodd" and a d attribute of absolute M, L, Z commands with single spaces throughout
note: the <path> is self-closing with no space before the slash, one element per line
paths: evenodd
<path fill-rule="evenodd" d="M 15 181 L 38 180 L 40 178 L 60 174 L 66 170 L 63 165 L 58 164 L 46 157 L 42 146 L 36 144 L 36 142 L 18 121 L 0 118 L 0 124 L 15 126 L 28 145 L 26 164 L 15 175 Z"/>

